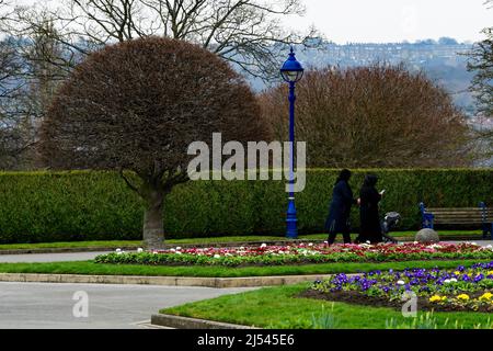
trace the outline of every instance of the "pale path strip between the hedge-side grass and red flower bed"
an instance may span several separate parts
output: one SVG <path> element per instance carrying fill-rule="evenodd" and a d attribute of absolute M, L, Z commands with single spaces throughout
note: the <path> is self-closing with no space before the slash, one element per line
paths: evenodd
<path fill-rule="evenodd" d="M 449 241 L 449 242 L 459 244 L 465 241 Z M 493 245 L 493 241 L 489 240 L 478 240 L 474 242 L 481 246 Z M 103 253 L 108 252 L 0 254 L 0 263 L 88 261 L 93 260 L 96 256 Z"/>

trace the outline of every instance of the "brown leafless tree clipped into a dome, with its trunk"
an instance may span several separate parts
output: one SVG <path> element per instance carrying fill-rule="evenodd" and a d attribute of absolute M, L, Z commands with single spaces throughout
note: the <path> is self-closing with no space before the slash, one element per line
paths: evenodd
<path fill-rule="evenodd" d="M 216 55 L 175 39 L 135 39 L 76 68 L 43 124 L 41 151 L 55 169 L 118 170 L 146 203 L 145 241 L 159 248 L 163 200 L 188 180 L 190 144 L 215 132 L 225 141 L 263 139 L 259 110 Z"/>

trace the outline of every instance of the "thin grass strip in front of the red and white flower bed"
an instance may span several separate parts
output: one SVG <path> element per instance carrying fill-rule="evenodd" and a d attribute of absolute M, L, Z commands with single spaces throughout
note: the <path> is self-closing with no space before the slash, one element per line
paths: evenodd
<path fill-rule="evenodd" d="M 0 263 L 0 273 L 44 273 L 44 274 L 85 274 L 85 275 L 144 275 L 144 276 L 206 276 L 239 278 L 268 275 L 307 275 L 332 273 L 359 273 L 372 270 L 404 270 L 406 268 L 455 269 L 459 265 L 472 265 L 490 260 L 456 261 L 408 261 L 387 263 L 324 263 L 279 267 L 151 267 L 130 264 L 98 264 L 93 261 L 53 262 L 53 263 Z"/>

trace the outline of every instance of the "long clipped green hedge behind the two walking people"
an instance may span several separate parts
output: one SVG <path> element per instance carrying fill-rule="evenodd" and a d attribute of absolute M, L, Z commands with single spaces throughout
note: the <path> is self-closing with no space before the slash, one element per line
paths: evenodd
<path fill-rule="evenodd" d="M 355 170 L 355 196 L 369 170 Z M 493 205 L 492 170 L 371 170 L 386 189 L 381 214 L 397 211 L 401 229 L 417 229 L 419 203 Z M 339 170 L 310 170 L 297 194 L 301 234 L 323 233 Z M 282 181 L 210 181 L 180 185 L 164 206 L 167 238 L 284 236 L 287 194 Z M 140 239 L 142 204 L 114 172 L 0 173 L 0 242 Z M 353 210 L 353 227 L 358 212 Z"/>

